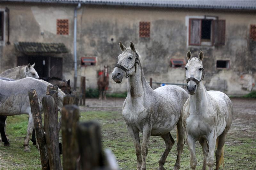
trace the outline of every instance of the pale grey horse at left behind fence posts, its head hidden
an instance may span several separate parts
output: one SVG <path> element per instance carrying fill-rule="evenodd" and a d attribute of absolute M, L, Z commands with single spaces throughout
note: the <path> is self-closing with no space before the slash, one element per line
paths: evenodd
<path fill-rule="evenodd" d="M 1 82 L 1 113 L 4 116 L 13 116 L 20 114 L 29 115 L 27 135 L 24 140 L 24 152 L 30 152 L 29 150 L 29 137 L 34 129 L 33 118 L 31 115 L 30 103 L 28 98 L 28 91 L 35 89 L 38 96 L 38 103 L 40 111 L 43 111 L 42 98 L 46 95 L 48 85 L 52 85 L 44 80 L 38 80 L 35 78 L 23 78 L 16 81 L 0 80 Z M 62 108 L 62 101 L 65 93 L 58 88 L 58 108 Z M 2 134 L 1 134 L 2 135 Z M 6 141 L 4 141 L 6 142 Z"/>

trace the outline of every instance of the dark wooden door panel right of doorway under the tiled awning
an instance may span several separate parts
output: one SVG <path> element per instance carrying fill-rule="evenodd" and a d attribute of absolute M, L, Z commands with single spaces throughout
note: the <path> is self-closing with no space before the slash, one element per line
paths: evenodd
<path fill-rule="evenodd" d="M 62 58 L 51 57 L 50 77 L 62 78 Z"/>

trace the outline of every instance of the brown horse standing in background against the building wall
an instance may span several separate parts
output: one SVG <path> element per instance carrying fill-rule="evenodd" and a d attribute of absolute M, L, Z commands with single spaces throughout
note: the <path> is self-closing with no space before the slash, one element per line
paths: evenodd
<path fill-rule="evenodd" d="M 108 84 L 109 84 L 109 76 L 108 76 L 108 66 L 104 65 L 104 71 L 99 72 L 99 78 L 97 81 L 98 87 L 99 87 L 99 92 L 100 92 L 100 97 L 99 99 L 104 99 L 106 100 L 106 92 L 108 90 Z"/>

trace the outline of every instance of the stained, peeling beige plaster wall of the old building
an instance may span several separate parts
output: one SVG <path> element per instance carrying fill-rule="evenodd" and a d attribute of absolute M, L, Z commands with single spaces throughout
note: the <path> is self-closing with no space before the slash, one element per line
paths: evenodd
<path fill-rule="evenodd" d="M 11 43 L 15 41 L 63 42 L 70 50 L 63 59 L 63 76 L 73 80 L 75 5 L 1 3 L 1 7 L 5 6 L 10 8 L 11 14 L 15 12 L 16 15 L 22 15 L 22 17 L 11 15 Z M 230 95 L 245 94 L 255 89 L 256 43 L 249 40 L 249 26 L 255 24 L 255 13 L 93 5 L 82 5 L 77 12 L 77 85 L 80 85 L 80 76 L 86 76 L 87 87 L 97 88 L 98 70 L 104 65 L 109 65 L 111 75 L 117 62 L 116 57 L 121 53 L 119 42 L 122 41 L 125 46 L 129 46 L 132 41 L 140 52 L 143 70 L 148 81 L 151 77 L 157 82 L 185 83 L 184 68 L 171 68 L 170 59 L 186 59 L 186 53 L 190 49 L 193 56 L 197 56 L 199 50 L 204 52 L 204 82 L 207 89 L 221 90 Z M 218 16 L 219 19 L 226 20 L 225 46 L 187 46 L 186 17 L 204 15 Z M 69 19 L 69 35 L 56 35 L 58 18 Z M 151 23 L 150 38 L 139 37 L 140 21 Z M 23 23 L 28 25 L 24 26 Z M 44 35 L 41 35 L 41 32 L 44 32 Z M 14 47 L 4 46 L 3 51 L 1 71 L 16 66 L 13 59 L 10 59 L 17 56 Z M 80 57 L 83 56 L 96 56 L 96 65 L 81 66 Z M 230 69 L 217 70 L 216 60 L 218 59 L 230 60 Z M 127 80 L 122 84 L 116 84 L 111 79 L 109 82 L 110 92 L 126 90 Z M 156 87 L 158 85 L 153 85 L 153 88 Z"/>

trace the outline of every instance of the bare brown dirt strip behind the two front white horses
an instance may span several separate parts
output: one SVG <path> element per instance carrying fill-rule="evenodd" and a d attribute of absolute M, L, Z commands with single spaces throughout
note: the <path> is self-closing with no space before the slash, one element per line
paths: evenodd
<path fill-rule="evenodd" d="M 107 100 L 86 99 L 86 106 L 81 111 L 122 111 L 124 98 L 108 98 Z M 233 104 L 233 122 L 229 134 L 235 137 L 256 138 L 256 100 L 231 98 Z M 236 144 L 237 141 L 226 141 Z M 256 147 L 256 146 L 255 146 Z"/>

